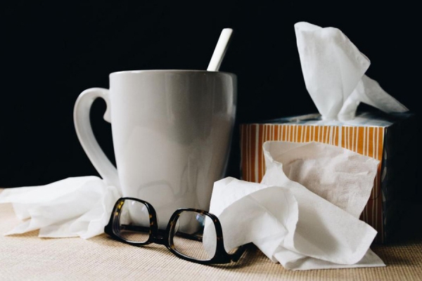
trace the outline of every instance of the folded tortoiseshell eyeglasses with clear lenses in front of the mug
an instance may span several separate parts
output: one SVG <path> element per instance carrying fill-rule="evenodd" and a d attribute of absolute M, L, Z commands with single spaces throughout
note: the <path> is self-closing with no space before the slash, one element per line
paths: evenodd
<path fill-rule="evenodd" d="M 238 261 L 245 251 L 245 246 L 224 249 L 221 223 L 207 211 L 177 209 L 161 230 L 153 206 L 132 197 L 117 200 L 104 232 L 134 246 L 162 244 L 181 259 L 203 264 Z"/>

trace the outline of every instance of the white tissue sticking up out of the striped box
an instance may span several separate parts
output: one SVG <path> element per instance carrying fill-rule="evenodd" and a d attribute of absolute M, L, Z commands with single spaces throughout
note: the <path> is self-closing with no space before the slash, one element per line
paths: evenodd
<path fill-rule="evenodd" d="M 323 119 L 354 119 L 359 103 L 383 112 L 408 109 L 366 76 L 371 62 L 335 27 L 295 23 L 306 89 Z"/>

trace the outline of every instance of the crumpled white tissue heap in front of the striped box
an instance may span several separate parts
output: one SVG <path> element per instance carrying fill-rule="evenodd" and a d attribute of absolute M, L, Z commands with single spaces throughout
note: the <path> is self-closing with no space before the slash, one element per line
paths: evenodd
<path fill-rule="evenodd" d="M 227 250 L 253 242 L 291 270 L 385 266 L 369 248 L 376 230 L 359 220 L 378 160 L 324 143 L 263 148 L 261 183 L 229 177 L 214 185 L 210 212 L 222 223 Z M 205 249 L 214 246 L 210 230 L 206 223 Z"/>

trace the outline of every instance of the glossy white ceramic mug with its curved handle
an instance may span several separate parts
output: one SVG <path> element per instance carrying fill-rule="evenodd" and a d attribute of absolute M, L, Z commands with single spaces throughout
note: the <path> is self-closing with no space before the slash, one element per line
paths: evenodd
<path fill-rule="evenodd" d="M 150 202 L 160 228 L 181 207 L 208 210 L 224 176 L 236 113 L 237 80 L 228 72 L 113 72 L 110 89 L 83 91 L 75 103 L 79 142 L 98 174 L 124 197 Z M 96 98 L 106 100 L 117 169 L 89 122 Z"/>

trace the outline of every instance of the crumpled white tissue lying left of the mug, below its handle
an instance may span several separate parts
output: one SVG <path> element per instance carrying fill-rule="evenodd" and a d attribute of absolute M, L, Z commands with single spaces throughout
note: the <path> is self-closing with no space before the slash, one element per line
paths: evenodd
<path fill-rule="evenodd" d="M 39 237 L 82 237 L 104 233 L 121 192 L 96 176 L 65 178 L 47 185 L 6 188 L 0 203 L 12 203 L 22 220 L 5 235 L 39 230 Z"/>

